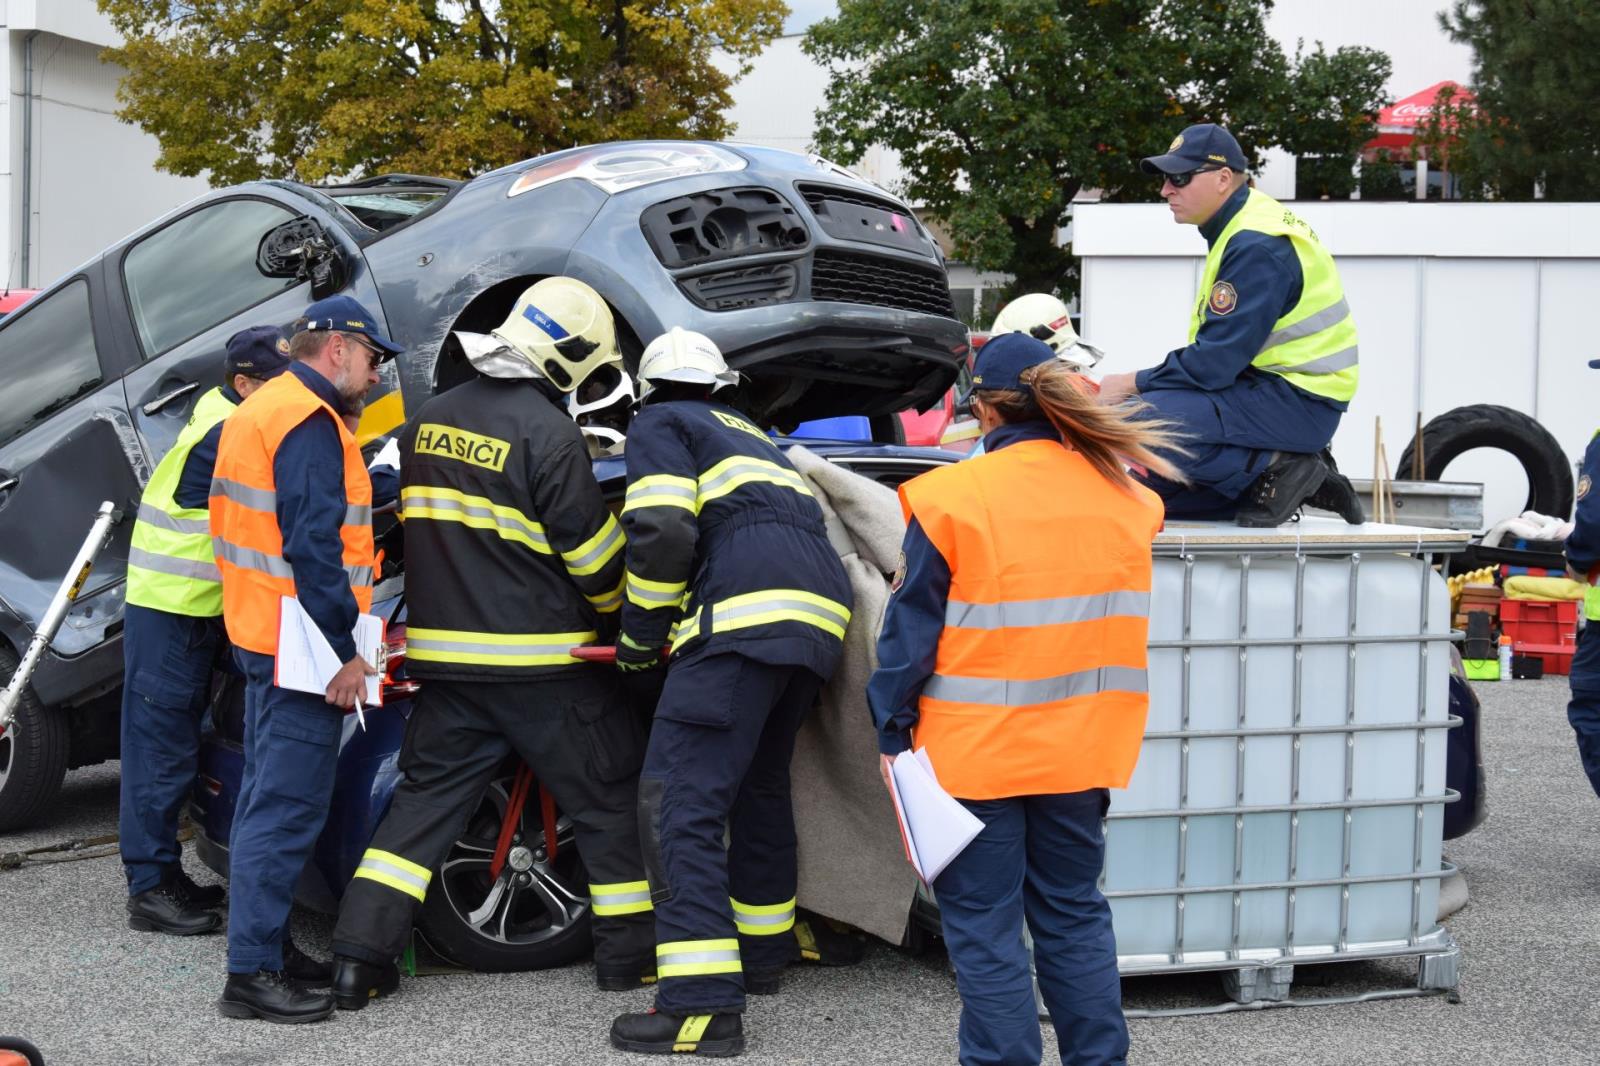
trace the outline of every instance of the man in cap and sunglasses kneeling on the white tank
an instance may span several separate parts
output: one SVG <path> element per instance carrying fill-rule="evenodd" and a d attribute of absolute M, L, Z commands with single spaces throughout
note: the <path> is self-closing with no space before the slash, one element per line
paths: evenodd
<path fill-rule="evenodd" d="M 1170 517 L 1285 522 L 1302 504 L 1362 522 L 1328 442 L 1358 379 L 1355 322 L 1333 256 L 1310 226 L 1250 187 L 1245 152 L 1222 126 L 1178 134 L 1146 158 L 1173 218 L 1206 238 L 1189 343 L 1158 367 L 1110 375 L 1101 400 L 1130 395 L 1182 424 L 1190 485 L 1147 483 Z"/>

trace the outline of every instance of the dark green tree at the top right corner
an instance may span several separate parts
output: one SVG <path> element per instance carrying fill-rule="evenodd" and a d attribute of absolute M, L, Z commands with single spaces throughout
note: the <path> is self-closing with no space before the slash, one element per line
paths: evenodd
<path fill-rule="evenodd" d="M 1426 131 L 1462 194 L 1600 200 L 1600 6 L 1456 0 L 1438 22 L 1472 48 L 1477 101 L 1446 99 Z"/>

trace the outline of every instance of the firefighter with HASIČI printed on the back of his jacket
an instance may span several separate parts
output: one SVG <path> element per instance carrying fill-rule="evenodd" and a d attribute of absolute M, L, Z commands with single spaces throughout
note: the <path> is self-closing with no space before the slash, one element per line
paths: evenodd
<path fill-rule="evenodd" d="M 613 671 L 570 655 L 610 637 L 622 605 L 622 528 L 562 407 L 589 375 L 618 373 L 611 312 L 582 282 L 554 277 L 493 335 L 458 338 L 480 376 L 424 403 L 400 434 L 406 669 L 422 688 L 403 779 L 333 933 L 334 1000 L 347 1010 L 395 989 L 394 959 L 434 869 L 509 752 L 576 831 L 600 988 L 654 973 L 635 818 L 643 723 Z M 539 892 L 544 858 L 518 840 L 491 892 Z"/>

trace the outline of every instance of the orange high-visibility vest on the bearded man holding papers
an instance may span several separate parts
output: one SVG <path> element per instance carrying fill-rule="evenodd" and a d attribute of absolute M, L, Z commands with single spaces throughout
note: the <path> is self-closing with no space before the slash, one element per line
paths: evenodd
<path fill-rule="evenodd" d="M 344 423 L 293 373 L 278 375 L 222 423 L 211 477 L 211 547 L 222 575 L 227 639 L 246 651 L 277 655 L 278 602 L 296 595 L 283 559 L 272 459 L 291 429 L 315 411 L 333 416 L 344 445 L 344 573 L 360 610 L 373 607 L 373 482 Z"/>

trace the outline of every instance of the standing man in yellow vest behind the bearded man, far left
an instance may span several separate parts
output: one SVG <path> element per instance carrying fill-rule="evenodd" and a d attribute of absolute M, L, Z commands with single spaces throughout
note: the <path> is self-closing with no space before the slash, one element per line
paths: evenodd
<path fill-rule="evenodd" d="M 277 327 L 227 339 L 226 384 L 203 394 L 139 499 L 128 551 L 122 650 L 120 842 L 128 925 L 141 932 L 210 933 L 221 887 L 184 874 L 178 813 L 195 776 L 200 717 L 222 647 L 222 584 L 211 559 L 206 504 L 222 419 L 290 365 Z"/>

